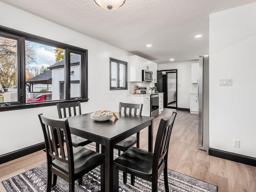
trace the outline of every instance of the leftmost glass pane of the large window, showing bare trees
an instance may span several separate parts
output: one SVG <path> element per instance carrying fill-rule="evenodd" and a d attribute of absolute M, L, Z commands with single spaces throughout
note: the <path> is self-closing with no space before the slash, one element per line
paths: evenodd
<path fill-rule="evenodd" d="M 0 103 L 17 102 L 17 40 L 0 36 Z"/>

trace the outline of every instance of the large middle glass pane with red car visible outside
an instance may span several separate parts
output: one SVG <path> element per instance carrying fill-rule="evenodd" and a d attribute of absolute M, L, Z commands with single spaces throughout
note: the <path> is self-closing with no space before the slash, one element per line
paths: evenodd
<path fill-rule="evenodd" d="M 64 50 L 26 40 L 26 102 L 64 99 Z"/>

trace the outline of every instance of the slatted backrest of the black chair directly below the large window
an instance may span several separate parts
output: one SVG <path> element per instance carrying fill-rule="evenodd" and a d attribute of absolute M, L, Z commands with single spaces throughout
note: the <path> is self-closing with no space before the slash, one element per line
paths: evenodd
<path fill-rule="evenodd" d="M 58 103 L 57 109 L 59 118 L 66 118 L 75 116 L 77 114 L 82 114 L 80 101 L 72 103 Z"/>

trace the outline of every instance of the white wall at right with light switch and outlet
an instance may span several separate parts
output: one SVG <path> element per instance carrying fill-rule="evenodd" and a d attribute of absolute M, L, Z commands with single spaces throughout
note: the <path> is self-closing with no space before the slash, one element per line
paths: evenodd
<path fill-rule="evenodd" d="M 210 15 L 210 148 L 256 157 L 255 54 L 256 3 Z"/>

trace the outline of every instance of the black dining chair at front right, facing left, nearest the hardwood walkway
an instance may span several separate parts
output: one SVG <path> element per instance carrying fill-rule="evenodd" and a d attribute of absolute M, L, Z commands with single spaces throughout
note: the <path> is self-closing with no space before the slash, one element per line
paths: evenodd
<path fill-rule="evenodd" d="M 169 192 L 167 177 L 168 148 L 176 112 L 162 118 L 156 135 L 154 153 L 131 147 L 114 160 L 114 192 L 118 191 L 118 170 L 152 182 L 152 192 L 158 191 L 158 178 L 164 170 L 165 191 Z M 132 185 L 134 179 L 131 178 Z"/>

